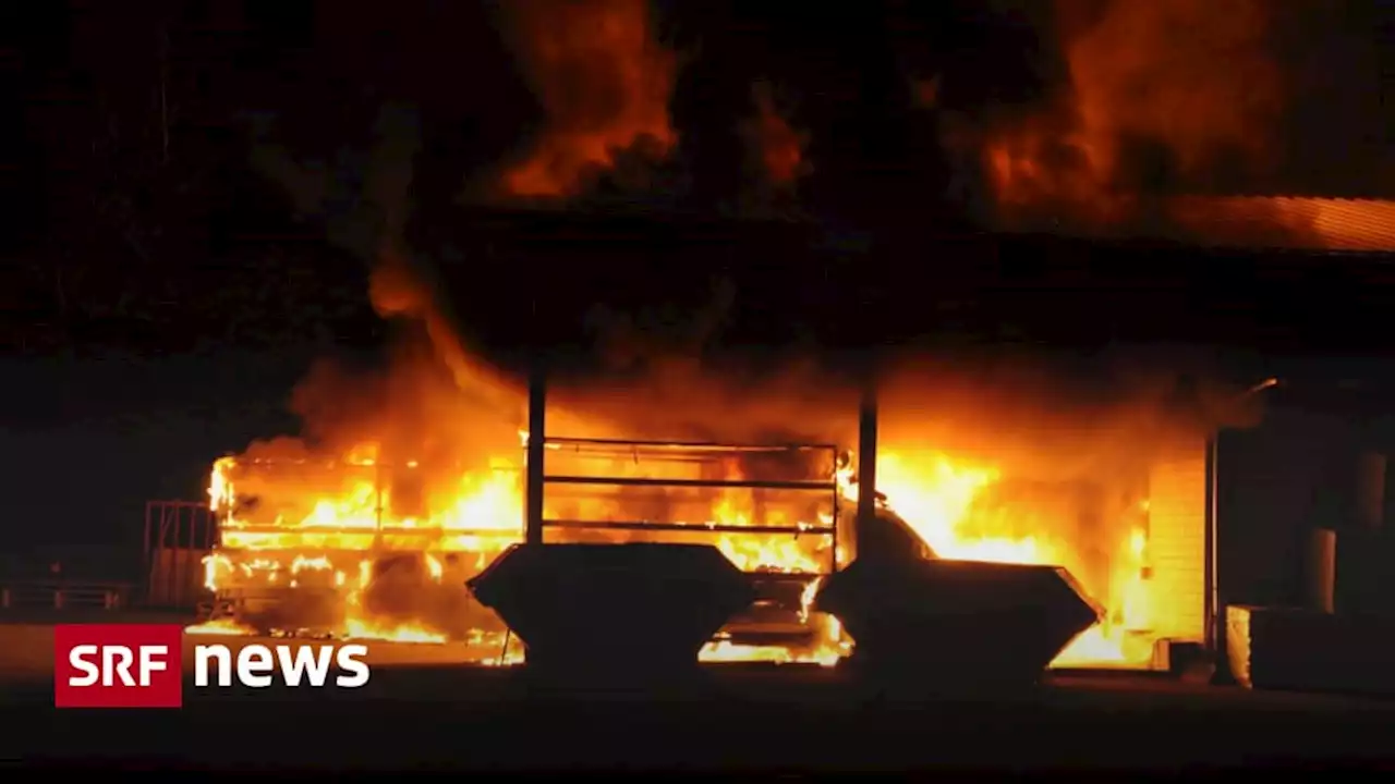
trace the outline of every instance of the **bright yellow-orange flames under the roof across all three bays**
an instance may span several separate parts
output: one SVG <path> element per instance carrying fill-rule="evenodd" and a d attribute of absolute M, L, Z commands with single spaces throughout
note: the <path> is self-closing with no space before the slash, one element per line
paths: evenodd
<path fill-rule="evenodd" d="M 520 437 L 526 444 L 527 434 Z M 558 445 L 548 444 L 548 448 L 550 462 L 569 456 Z M 506 644 L 506 631 L 497 619 L 491 624 L 490 618 L 472 617 L 473 626 L 452 629 L 441 621 L 448 612 L 432 615 L 431 607 L 420 600 L 393 598 L 392 586 L 398 585 L 393 580 L 407 580 L 402 585 L 413 586 L 406 591 L 412 596 L 423 590 L 459 596 L 465 579 L 478 573 L 509 544 L 520 541 L 522 459 L 513 463 L 497 459 L 491 470 L 456 474 L 432 472 L 414 460 L 392 472 L 375 455 L 374 445 L 360 445 L 342 460 L 325 465 L 218 460 L 209 497 L 222 519 L 222 534 L 219 548 L 205 559 L 205 586 L 219 594 L 241 591 L 247 597 L 244 601 L 268 590 L 331 597 L 328 601 L 333 607 L 321 632 L 343 639 L 417 643 L 467 639 L 481 646 L 499 646 L 499 640 Z M 605 460 L 610 460 L 605 476 L 674 478 L 692 470 L 681 462 Z M 1149 593 L 1148 534 L 1137 519 L 1103 526 L 1103 532 L 1117 533 L 1119 541 L 1115 552 L 1103 558 L 1108 572 L 1101 576 L 1098 565 L 1081 555 L 1084 543 L 1066 523 L 1073 512 L 1053 511 L 1030 488 L 1011 491 L 1000 470 L 944 453 L 908 451 L 886 451 L 879 455 L 877 465 L 877 487 L 889 498 L 887 506 L 905 519 L 937 557 L 1060 565 L 1108 605 L 1108 617 L 1062 653 L 1057 665 L 1148 661 L 1151 615 L 1161 597 Z M 552 470 L 550 467 L 550 473 Z M 830 485 L 837 488 L 841 508 L 854 509 L 858 492 L 851 465 L 834 466 L 830 472 Z M 389 473 L 398 484 L 382 480 Z M 251 498 L 255 502 L 248 502 Z M 664 511 L 693 508 L 674 498 L 660 502 Z M 608 495 L 587 495 L 579 501 L 564 497 L 550 499 L 544 512 L 548 519 L 614 519 L 617 504 L 615 497 Z M 718 490 L 706 501 L 699 499 L 699 506 L 707 509 L 707 519 L 693 526 L 699 529 L 696 533 L 643 532 L 643 538 L 709 541 L 742 571 L 805 580 L 798 622 L 809 632 L 788 644 L 745 644 L 723 635 L 703 649 L 704 661 L 831 665 L 851 651 L 852 640 L 837 618 L 809 610 L 822 585 L 819 575 L 833 566 L 831 543 L 820 543 L 817 536 L 801 532 L 827 530 L 820 526 L 833 522 L 831 513 L 801 519 L 790 509 L 769 506 L 757 518 L 752 491 L 738 488 Z M 624 512 L 619 513 L 624 516 Z M 1147 502 L 1138 501 L 1133 513 L 1144 518 Z M 756 523 L 792 523 L 791 534 L 739 532 Z M 700 533 L 718 527 L 724 530 L 716 536 Z M 639 536 L 614 530 L 562 529 L 557 533 L 564 541 L 626 541 Z M 398 572 L 381 568 L 382 562 L 391 565 L 393 559 L 400 561 Z M 262 626 L 266 631 L 265 624 Z M 296 633 L 297 626 L 269 631 Z M 252 633 L 254 626 L 223 618 L 194 626 L 191 632 Z M 490 661 L 516 658 L 501 654 Z"/>

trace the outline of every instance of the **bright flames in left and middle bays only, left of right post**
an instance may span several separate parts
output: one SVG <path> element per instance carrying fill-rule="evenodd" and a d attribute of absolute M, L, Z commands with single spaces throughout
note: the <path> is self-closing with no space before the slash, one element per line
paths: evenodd
<path fill-rule="evenodd" d="M 527 432 L 519 431 L 526 446 Z M 547 445 L 559 452 L 557 444 Z M 522 452 L 522 451 L 520 451 Z M 522 540 L 523 488 L 522 455 L 497 458 L 484 472 L 437 470 L 421 460 L 406 460 L 400 470 L 379 462 L 375 444 L 357 444 L 338 460 L 262 460 L 223 458 L 213 463 L 209 494 L 219 501 L 219 547 L 204 561 L 208 590 L 219 594 L 247 591 L 300 590 L 307 596 L 332 596 L 335 618 L 321 628 L 340 639 L 381 639 L 396 642 L 441 643 L 458 638 L 434 622 L 430 612 L 413 608 L 385 608 L 375 600 L 384 580 L 375 564 L 407 555 L 418 558 L 421 585 L 459 586 L 469 573 L 484 569 L 508 545 Z M 565 460 L 571 455 L 557 458 Z M 699 478 L 691 463 L 649 465 L 629 455 L 600 458 L 604 476 L 638 478 Z M 559 469 L 561 470 L 561 469 Z M 727 466 L 728 478 L 739 470 Z M 391 477 L 391 480 L 388 478 Z M 829 505 L 833 504 L 830 481 Z M 240 501 L 248 501 L 240 505 Z M 829 526 L 831 509 L 801 516 L 797 508 L 784 508 L 764 499 L 763 516 L 756 516 L 756 491 L 720 488 L 678 506 L 675 499 L 661 499 L 664 509 L 704 512 L 692 526 L 693 533 L 658 534 L 667 541 L 713 543 L 737 566 L 749 572 L 783 572 L 813 576 L 830 564 L 831 537 L 812 532 Z M 625 504 L 615 494 L 585 498 L 564 497 L 544 509 L 550 519 L 590 520 L 625 518 Z M 663 511 L 656 512 L 656 515 Z M 681 520 L 679 520 L 681 522 Z M 749 527 L 756 523 L 787 526 L 788 534 L 744 534 L 704 530 Z M 625 541 L 631 532 L 559 532 L 562 540 Z M 646 538 L 656 538 L 649 533 Z M 451 575 L 456 564 L 456 572 Z M 460 569 L 465 569 L 463 572 Z M 391 590 L 391 586 L 388 586 Z M 414 590 L 414 589 L 413 589 Z M 812 593 L 806 591 L 812 600 Z M 804 615 L 808 615 L 805 601 Z M 816 619 L 817 621 L 817 619 Z M 248 624 L 222 622 L 226 628 L 250 633 Z M 199 628 L 204 628 L 201 625 Z M 801 650 L 778 646 L 751 647 L 738 643 L 714 643 L 703 653 L 707 660 L 817 661 L 831 664 L 834 651 L 845 647 L 845 636 L 836 622 L 819 621 L 819 633 Z M 296 633 L 297 628 L 273 628 L 273 633 Z M 472 629 L 466 636 L 487 635 Z M 484 640 L 485 638 L 480 638 Z M 481 642 L 480 644 L 494 644 Z M 518 657 L 501 656 L 499 664 Z"/>

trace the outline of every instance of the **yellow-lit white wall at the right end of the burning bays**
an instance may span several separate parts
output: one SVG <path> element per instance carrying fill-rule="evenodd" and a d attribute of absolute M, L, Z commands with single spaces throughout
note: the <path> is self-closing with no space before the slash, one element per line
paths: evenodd
<path fill-rule="evenodd" d="M 1205 442 L 1159 460 L 1148 481 L 1148 547 L 1155 629 L 1163 638 L 1205 638 Z"/>

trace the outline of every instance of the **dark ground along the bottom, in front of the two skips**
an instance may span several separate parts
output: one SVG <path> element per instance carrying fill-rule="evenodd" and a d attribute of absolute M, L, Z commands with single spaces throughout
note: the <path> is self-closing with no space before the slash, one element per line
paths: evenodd
<path fill-rule="evenodd" d="M 870 700 L 844 674 L 710 668 L 649 700 L 541 698 L 523 674 L 374 649 L 357 692 L 186 689 L 183 710 L 52 707 L 42 633 L 0 625 L 0 759 L 339 769 L 1177 767 L 1391 756 L 1395 703 L 1148 675 L 1057 674 L 1031 692 Z M 28 635 L 25 638 L 25 635 Z M 25 642 L 27 640 L 27 642 Z M 25 667 L 18 663 L 27 661 Z"/>

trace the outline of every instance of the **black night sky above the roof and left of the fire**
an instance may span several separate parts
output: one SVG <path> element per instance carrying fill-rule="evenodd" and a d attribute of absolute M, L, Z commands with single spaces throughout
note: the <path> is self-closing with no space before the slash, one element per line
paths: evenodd
<path fill-rule="evenodd" d="M 571 193 L 520 202 L 499 183 L 558 126 L 626 114 L 617 85 L 632 85 L 615 60 L 573 56 L 540 78 L 529 59 L 544 33 L 585 40 L 578 18 L 638 7 L 579 17 L 571 6 L 11 8 L 0 25 L 8 565 L 61 554 L 70 571 L 123 573 L 95 554 L 121 547 L 134 561 L 146 498 L 198 498 L 212 458 L 293 430 L 285 402 L 310 361 L 371 352 L 389 331 L 367 296 L 385 230 L 431 258 L 449 243 L 420 237 L 526 202 L 794 220 L 855 255 L 925 223 L 982 225 L 982 172 L 946 128 L 1049 113 L 1070 88 L 1063 31 L 1110 4 L 654 3 L 650 32 L 672 54 L 658 103 L 667 155 L 640 141 Z M 1198 177 L 1163 149 L 1170 137 L 1129 126 L 1120 181 L 1395 197 L 1392 6 L 1261 6 L 1279 85 L 1267 165 L 1208 163 Z M 1223 50 L 1223 28 L 1189 35 Z M 1225 54 L 1193 70 L 1221 80 L 1243 60 Z M 795 140 L 788 183 L 773 174 L 762 91 Z"/>

